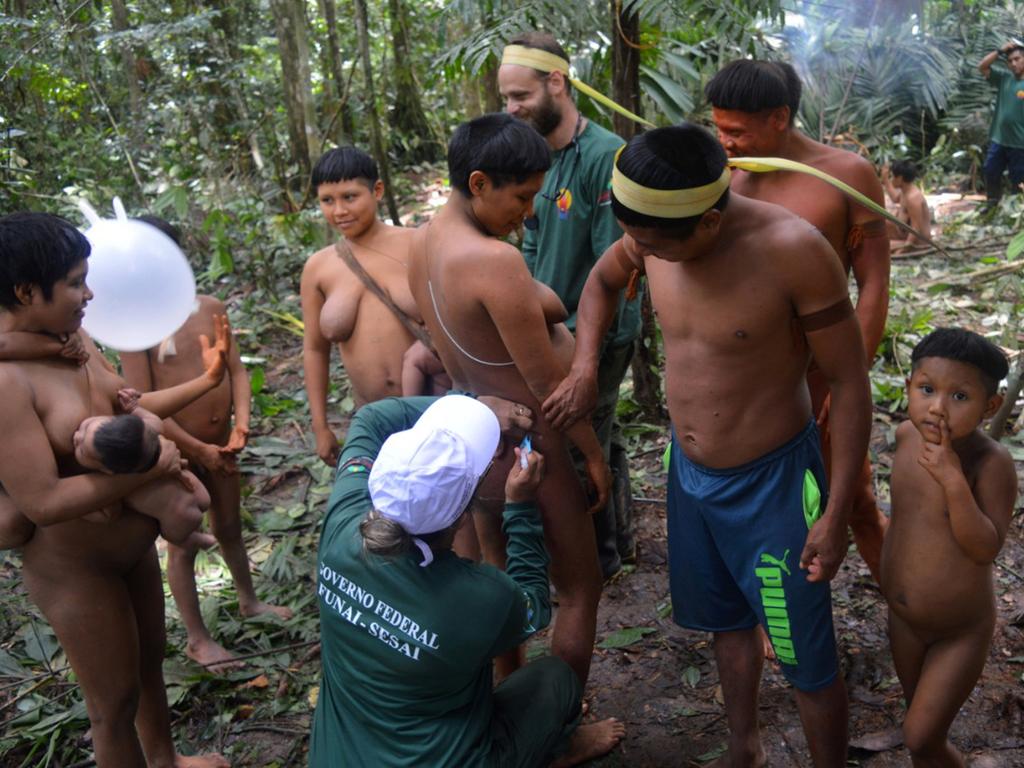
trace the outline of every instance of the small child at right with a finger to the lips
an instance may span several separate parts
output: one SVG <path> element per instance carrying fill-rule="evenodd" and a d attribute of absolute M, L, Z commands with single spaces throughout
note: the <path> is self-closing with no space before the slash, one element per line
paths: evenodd
<path fill-rule="evenodd" d="M 994 344 L 951 328 L 925 337 L 911 360 L 882 594 L 907 705 L 903 743 L 914 766 L 963 766 L 949 726 L 988 657 L 992 562 L 1017 498 L 1010 453 L 980 429 L 1002 402 L 1009 367 Z"/>

